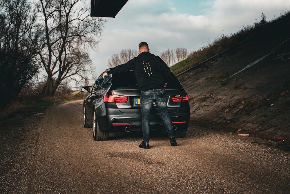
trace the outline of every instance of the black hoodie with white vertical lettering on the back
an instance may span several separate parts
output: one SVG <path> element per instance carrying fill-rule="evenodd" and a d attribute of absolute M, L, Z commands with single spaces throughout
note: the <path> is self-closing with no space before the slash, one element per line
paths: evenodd
<path fill-rule="evenodd" d="M 159 57 L 149 52 L 142 52 L 127 63 L 113 67 L 107 74 L 133 70 L 141 91 L 164 88 L 170 68 Z"/>

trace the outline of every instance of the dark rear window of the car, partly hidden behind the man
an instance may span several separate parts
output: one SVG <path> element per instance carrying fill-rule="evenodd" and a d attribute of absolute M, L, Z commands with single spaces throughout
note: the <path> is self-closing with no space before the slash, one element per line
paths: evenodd
<path fill-rule="evenodd" d="M 137 79 L 133 71 L 115 73 L 112 75 L 112 85 L 117 88 L 139 88 Z M 181 84 L 171 72 L 166 89 L 180 88 Z"/>

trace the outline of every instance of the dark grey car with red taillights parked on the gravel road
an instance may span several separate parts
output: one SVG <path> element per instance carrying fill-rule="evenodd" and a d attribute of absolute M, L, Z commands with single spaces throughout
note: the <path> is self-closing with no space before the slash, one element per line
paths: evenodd
<path fill-rule="evenodd" d="M 108 89 L 96 84 L 81 89 L 89 93 L 84 99 L 84 127 L 93 128 L 94 140 L 108 140 L 108 134 L 112 131 L 142 131 L 141 92 L 134 72 L 111 76 L 112 85 Z M 186 135 L 190 120 L 188 95 L 173 73 L 165 90 L 174 135 L 182 138 Z M 156 106 L 151 112 L 150 127 L 152 130 L 166 130 Z"/>

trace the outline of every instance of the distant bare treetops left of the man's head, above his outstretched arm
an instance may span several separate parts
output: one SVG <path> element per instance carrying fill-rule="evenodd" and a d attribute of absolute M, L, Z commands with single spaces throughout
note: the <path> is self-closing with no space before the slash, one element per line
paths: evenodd
<path fill-rule="evenodd" d="M 108 67 L 113 68 L 117 65 L 126 63 L 134 57 L 137 57 L 138 54 L 138 50 L 123 49 L 120 54 L 113 54 L 111 58 L 108 59 Z"/>

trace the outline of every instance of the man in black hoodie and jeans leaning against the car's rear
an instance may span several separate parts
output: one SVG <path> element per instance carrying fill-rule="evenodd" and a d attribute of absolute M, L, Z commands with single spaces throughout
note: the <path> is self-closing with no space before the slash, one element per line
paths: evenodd
<path fill-rule="evenodd" d="M 171 119 L 168 115 L 165 87 L 170 68 L 159 57 L 150 53 L 146 42 L 139 44 L 139 55 L 127 63 L 113 67 L 105 75 L 133 70 L 141 90 L 140 106 L 142 113 L 143 141 L 139 147 L 149 149 L 150 114 L 155 102 L 170 138 L 171 146 L 176 146 Z"/>

